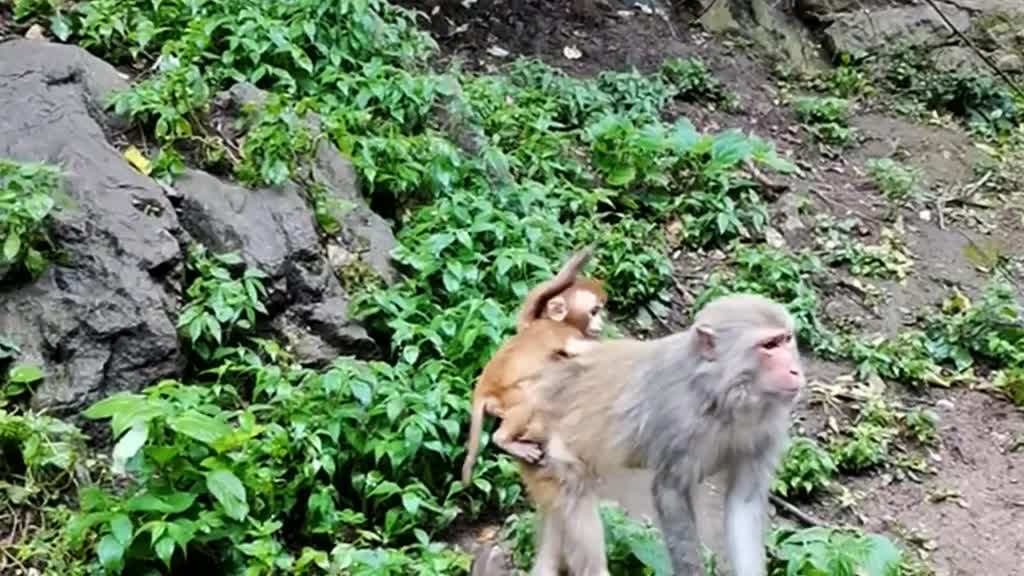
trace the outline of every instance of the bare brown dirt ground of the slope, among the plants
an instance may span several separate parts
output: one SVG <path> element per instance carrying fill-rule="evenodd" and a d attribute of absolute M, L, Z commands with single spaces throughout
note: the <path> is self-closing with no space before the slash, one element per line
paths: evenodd
<path fill-rule="evenodd" d="M 436 2 L 434 4 L 437 4 Z M 418 8 L 431 13 L 428 3 Z M 568 7 L 571 3 L 535 0 L 500 2 L 480 0 L 470 7 L 443 2 L 430 18 L 430 29 L 443 50 L 443 60 L 458 58 L 469 69 L 488 70 L 517 54 L 539 57 L 566 72 L 589 76 L 603 70 L 649 71 L 665 58 L 699 54 L 739 97 L 738 113 L 725 113 L 692 105 L 673 105 L 670 116 L 686 116 L 700 129 L 738 127 L 771 138 L 782 154 L 792 154 L 804 170 L 792 178 L 790 191 L 774 206 L 775 222 L 785 240 L 799 245 L 806 240 L 795 214 L 795 198 L 812 202 L 837 216 L 854 215 L 874 236 L 881 227 L 885 201 L 864 177 L 868 158 L 905 153 L 922 168 L 932 191 L 954 190 L 975 181 L 984 154 L 957 128 L 919 125 L 879 112 L 856 116 L 854 125 L 862 139 L 839 158 L 821 155 L 799 127 L 792 109 L 780 98 L 771 68 L 752 57 L 739 43 L 715 39 L 686 26 L 684 14 L 674 14 L 670 25 L 656 14 L 614 4 L 626 10 L 584 20 Z M 565 46 L 582 52 L 579 59 L 563 55 Z M 495 55 L 494 48 L 508 55 Z M 488 51 L 488 49 L 490 51 Z M 500 53 L 500 52 L 499 52 Z M 862 331 L 894 333 L 903 326 L 906 311 L 934 304 L 957 286 L 977 294 L 985 282 L 965 256 L 972 243 L 995 246 L 1005 255 L 1019 253 L 1024 245 L 1024 202 L 1021 198 L 992 199 L 999 210 L 963 209 L 903 214 L 908 248 L 914 264 L 904 283 L 883 282 L 888 298 L 876 311 L 857 294 L 827 294 L 826 313 L 856 315 Z M 806 225 L 806 222 L 803 222 Z M 683 265 L 684 264 L 684 265 Z M 681 255 L 678 284 L 698 282 L 709 262 L 692 254 Z M 1014 265 L 1018 286 L 1024 284 L 1020 259 Z M 686 302 L 680 302 L 685 306 Z M 663 330 L 664 331 L 664 330 Z M 809 376 L 828 381 L 849 373 L 849 366 L 812 362 Z M 824 500 L 803 504 L 806 511 L 830 524 L 848 524 L 881 531 L 914 550 L 938 575 L 1020 574 L 1024 558 L 1024 450 L 1014 450 L 1024 435 L 1024 415 L 1000 399 L 968 389 L 933 390 L 928 396 L 893 389 L 894 398 L 908 404 L 933 407 L 940 416 L 940 445 L 929 455 L 934 474 L 908 478 L 883 472 L 843 478 L 852 490 L 850 507 Z M 805 402 L 799 411 L 809 433 L 823 419 Z M 624 475 L 608 479 L 605 495 L 622 501 L 638 515 L 652 515 L 647 495 L 649 475 Z M 721 504 L 718 497 L 703 498 L 706 536 L 721 550 Z"/>

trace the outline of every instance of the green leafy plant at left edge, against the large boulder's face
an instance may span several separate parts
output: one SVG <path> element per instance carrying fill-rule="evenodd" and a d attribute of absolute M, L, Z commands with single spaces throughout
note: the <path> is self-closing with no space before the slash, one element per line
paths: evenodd
<path fill-rule="evenodd" d="M 49 223 L 59 192 L 55 167 L 0 159 L 0 280 L 43 272 L 54 250 Z"/>

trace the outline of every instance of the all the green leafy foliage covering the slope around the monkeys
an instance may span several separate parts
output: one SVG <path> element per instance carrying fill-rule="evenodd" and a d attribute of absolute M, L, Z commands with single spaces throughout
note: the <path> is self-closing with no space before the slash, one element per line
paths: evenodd
<path fill-rule="evenodd" d="M 19 17 L 49 9 L 17 4 Z M 43 513 L 67 527 L 18 542 L 12 553 L 29 565 L 70 575 L 465 574 L 468 559 L 438 540 L 463 519 L 521 503 L 515 466 L 498 451 L 483 452 L 472 486 L 455 479 L 472 383 L 511 333 L 527 288 L 589 242 L 600 247 L 593 274 L 616 312 L 667 299 L 671 249 L 720 249 L 727 265 L 708 279 L 695 310 L 724 293 L 764 293 L 794 313 L 803 344 L 854 361 L 861 376 L 921 385 L 982 365 L 998 370 L 1000 389 L 1024 404 L 1021 312 L 1002 287 L 977 305 L 954 298 L 922 330 L 894 338 L 865 341 L 823 320 L 822 260 L 876 277 L 901 277 L 903 262 L 888 246 L 854 244 L 846 231 L 818 251 L 759 245 L 768 210 L 750 168 L 796 168 L 754 134 L 664 121 L 674 98 L 731 106 L 699 59 L 587 80 L 525 58 L 488 74 L 433 71 L 433 41 L 411 12 L 384 0 L 86 0 L 54 12 L 51 25 L 115 63 L 148 65 L 159 54 L 152 76 L 110 102 L 155 136 L 147 152 L 156 177 L 171 180 L 196 164 L 248 186 L 292 180 L 322 233 L 333 235 L 344 207 L 306 169 L 319 138 L 330 139 L 351 158 L 373 207 L 397 221 L 393 255 L 406 274 L 360 290 L 376 285 L 372 274 L 357 264 L 339 271 L 357 294 L 353 312 L 386 335 L 390 354 L 386 362 L 340 358 L 314 371 L 257 336 L 263 274 L 238 255 L 193 247 L 178 318 L 187 377 L 86 412 L 113 433 L 115 478 L 104 471 L 84 483 L 79 509 L 48 501 L 52 486 L 78 482 L 77 430 L 0 404 L 0 443 L 19 462 L 3 470 L 16 482 L 2 487 L 15 503 L 46 504 Z M 210 122 L 212 95 L 239 81 L 268 93 L 244 111 L 241 143 Z M 844 98 L 864 85 L 853 67 L 829 82 Z M 929 101 L 1009 111 L 984 86 L 962 84 L 929 92 Z M 855 139 L 844 98 L 798 102 L 824 145 Z M 869 169 L 894 202 L 914 197 L 915 172 L 886 161 Z M 42 199 L 52 174 L 8 170 L 0 171 L 0 231 L 29 240 L 7 260 L 33 272 L 42 252 L 24 247 L 45 244 L 51 205 Z M 11 197 L 17 211 L 4 211 L 7 189 L 19 194 Z M 39 379 L 30 367 L 15 368 L 5 382 L 10 398 Z M 930 415 L 904 418 L 912 438 L 934 442 Z M 809 496 L 840 470 L 882 463 L 892 425 L 867 413 L 825 449 L 798 439 L 775 491 Z M 613 573 L 666 573 L 653 529 L 617 508 L 602 517 Z M 520 566 L 531 554 L 528 518 L 514 516 L 508 528 Z M 770 552 L 773 574 L 860 567 L 888 575 L 900 563 L 888 540 L 828 530 L 777 531 Z"/>

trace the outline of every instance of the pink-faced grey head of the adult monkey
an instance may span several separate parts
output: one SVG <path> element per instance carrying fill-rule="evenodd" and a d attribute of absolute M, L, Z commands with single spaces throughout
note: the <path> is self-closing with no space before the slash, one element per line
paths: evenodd
<path fill-rule="evenodd" d="M 694 345 L 719 372 L 719 392 L 754 403 L 793 402 L 805 384 L 795 322 L 779 303 L 732 294 L 693 319 Z"/>

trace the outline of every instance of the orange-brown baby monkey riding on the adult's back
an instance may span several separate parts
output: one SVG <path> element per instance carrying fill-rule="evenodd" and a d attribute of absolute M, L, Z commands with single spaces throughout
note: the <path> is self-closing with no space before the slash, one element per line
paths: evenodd
<path fill-rule="evenodd" d="M 546 362 L 580 354 L 589 339 L 601 333 L 608 296 L 600 281 L 577 278 L 592 253 L 590 246 L 577 252 L 554 278 L 526 294 L 516 334 L 483 367 L 473 389 L 463 484 L 469 484 L 472 476 L 484 413 L 502 419 L 494 435 L 502 450 L 527 462 L 540 460 L 544 430 L 532 418 L 535 406 L 524 385 Z"/>

